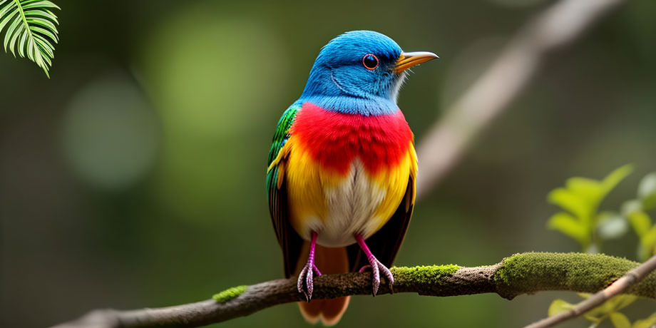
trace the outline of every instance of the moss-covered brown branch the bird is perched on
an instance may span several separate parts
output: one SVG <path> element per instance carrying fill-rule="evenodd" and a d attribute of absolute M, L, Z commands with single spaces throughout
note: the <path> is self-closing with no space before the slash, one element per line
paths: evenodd
<path fill-rule="evenodd" d="M 433 265 L 393 267 L 394 292 L 429 296 L 497 293 L 506 299 L 543 290 L 597 292 L 639 263 L 608 255 L 529 252 L 496 265 L 459 267 Z M 391 291 L 381 284 L 379 294 Z M 656 272 L 627 289 L 630 294 L 656 299 Z M 371 294 L 369 272 L 322 275 L 314 279 L 314 299 Z M 157 309 L 96 310 L 56 328 L 198 327 L 243 317 L 277 304 L 302 301 L 295 278 L 232 287 L 214 299 Z M 373 302 L 373 301 L 372 301 Z"/>

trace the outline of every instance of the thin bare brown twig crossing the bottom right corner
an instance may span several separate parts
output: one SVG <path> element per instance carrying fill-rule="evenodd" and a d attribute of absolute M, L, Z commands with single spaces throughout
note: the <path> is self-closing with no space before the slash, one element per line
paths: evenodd
<path fill-rule="evenodd" d="M 569 319 L 578 317 L 581 314 L 584 314 L 585 312 L 598 307 L 599 305 L 603 304 L 603 302 L 608 301 L 608 299 L 611 297 L 621 294 L 625 290 L 629 289 L 632 285 L 636 285 L 637 283 L 641 282 L 654 270 L 656 270 L 656 255 L 652 256 L 652 258 L 647 260 L 647 262 L 642 263 L 642 265 L 636 267 L 633 270 L 630 270 L 620 279 L 615 280 L 615 282 L 610 284 L 610 286 L 606 287 L 600 292 L 597 292 L 596 294 L 593 294 L 588 299 L 585 299 L 585 301 L 580 302 L 573 309 L 551 317 L 546 317 L 538 322 L 529 324 L 524 328 L 553 327 L 556 324 L 560 324 L 561 322 L 565 322 Z"/>

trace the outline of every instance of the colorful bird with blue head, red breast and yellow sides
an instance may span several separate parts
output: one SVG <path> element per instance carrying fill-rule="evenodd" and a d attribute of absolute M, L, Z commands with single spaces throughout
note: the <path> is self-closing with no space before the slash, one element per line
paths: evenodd
<path fill-rule="evenodd" d="M 298 275 L 309 322 L 336 324 L 349 297 L 312 299 L 312 278 L 371 267 L 373 294 L 403 241 L 415 197 L 413 134 L 396 105 L 406 69 L 438 58 L 401 51 L 374 31 L 322 48 L 301 97 L 282 114 L 269 152 L 269 209 Z M 361 268 L 361 269 L 359 269 Z M 320 270 L 320 271 L 319 271 Z"/>

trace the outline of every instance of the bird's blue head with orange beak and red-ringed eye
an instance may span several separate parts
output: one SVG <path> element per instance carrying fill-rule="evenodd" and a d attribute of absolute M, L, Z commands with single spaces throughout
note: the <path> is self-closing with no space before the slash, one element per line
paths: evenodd
<path fill-rule="evenodd" d="M 434 58 L 429 52 L 404 53 L 378 32 L 350 31 L 321 49 L 299 101 L 342 113 L 394 113 L 405 70 Z"/>

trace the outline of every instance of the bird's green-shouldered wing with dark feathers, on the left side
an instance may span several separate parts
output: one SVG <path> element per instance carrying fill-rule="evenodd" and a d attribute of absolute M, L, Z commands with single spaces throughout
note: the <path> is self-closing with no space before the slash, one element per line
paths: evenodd
<path fill-rule="evenodd" d="M 269 191 L 269 211 L 276 232 L 278 244 L 282 248 L 285 259 L 285 276 L 290 277 L 296 267 L 303 245 L 302 238 L 289 224 L 289 204 L 287 203 L 287 186 L 285 183 L 285 168 L 289 149 L 285 144 L 289 139 L 296 113 L 300 104 L 294 104 L 282 114 L 273 135 L 273 144 L 269 150 L 269 168 L 267 170 L 267 190 Z"/>

